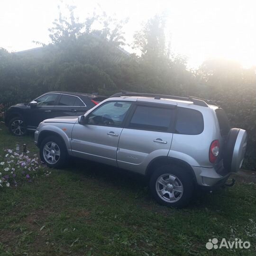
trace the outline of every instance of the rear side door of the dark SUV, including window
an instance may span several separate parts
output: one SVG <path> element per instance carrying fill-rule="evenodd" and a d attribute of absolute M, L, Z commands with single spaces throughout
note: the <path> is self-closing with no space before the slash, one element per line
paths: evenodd
<path fill-rule="evenodd" d="M 89 108 L 84 104 L 84 102 L 77 96 L 61 94 L 60 100 L 55 107 L 55 116 L 81 116 Z"/>

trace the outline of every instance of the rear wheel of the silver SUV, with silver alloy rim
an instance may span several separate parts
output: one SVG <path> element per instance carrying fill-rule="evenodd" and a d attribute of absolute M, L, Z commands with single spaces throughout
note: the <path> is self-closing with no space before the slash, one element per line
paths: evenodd
<path fill-rule="evenodd" d="M 164 197 L 163 196 L 161 197 L 157 192 L 158 191 L 157 187 L 161 186 L 161 183 L 158 183 L 158 178 L 160 178 L 164 174 L 171 175 L 171 178 L 175 177 L 175 179 L 173 181 L 173 185 L 171 184 L 172 182 L 168 183 L 171 186 L 168 186 L 168 187 L 166 186 L 167 191 L 165 187 L 162 186 L 163 193 L 165 193 L 166 191 L 166 194 L 164 195 Z M 168 180 L 171 181 L 170 178 L 166 179 L 166 181 Z M 151 175 L 149 188 L 153 197 L 159 204 L 162 204 L 168 207 L 183 208 L 190 202 L 190 199 L 192 198 L 192 195 L 194 193 L 194 181 L 192 178 L 192 174 L 190 174 L 183 167 L 178 165 L 163 165 L 158 167 L 155 170 L 155 172 Z M 168 190 L 168 189 L 171 190 L 172 188 L 173 188 L 172 191 Z M 177 188 L 179 188 L 179 190 L 182 192 L 175 191 L 175 189 Z M 174 201 L 168 201 L 168 197 L 169 199 L 171 198 L 169 194 L 172 194 L 172 196 L 174 196 L 174 198 L 177 198 L 178 200 L 175 201 L 174 199 Z"/>

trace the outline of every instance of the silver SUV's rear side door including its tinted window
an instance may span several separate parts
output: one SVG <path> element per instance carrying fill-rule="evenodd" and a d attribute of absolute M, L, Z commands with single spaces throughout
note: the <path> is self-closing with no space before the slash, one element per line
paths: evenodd
<path fill-rule="evenodd" d="M 143 174 L 152 159 L 167 156 L 175 110 L 176 105 L 137 102 L 119 139 L 118 166 Z"/>

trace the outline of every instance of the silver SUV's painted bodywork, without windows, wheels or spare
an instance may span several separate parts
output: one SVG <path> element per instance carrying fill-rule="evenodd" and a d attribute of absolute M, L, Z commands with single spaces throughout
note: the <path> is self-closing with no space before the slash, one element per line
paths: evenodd
<path fill-rule="evenodd" d="M 35 143 L 39 137 L 54 132 L 62 137 L 69 155 L 117 166 L 139 174 L 146 174 L 152 161 L 169 157 L 183 161 L 192 167 L 196 182 L 202 186 L 213 186 L 230 175 L 220 175 L 223 168 L 220 159 L 215 164 L 209 161 L 209 147 L 218 139 L 220 148 L 224 143 L 220 135 L 215 113 L 217 106 L 208 107 L 191 101 L 172 99 L 157 100 L 149 97 L 109 98 L 88 110 L 85 117 L 108 101 L 152 102 L 198 110 L 203 116 L 204 129 L 198 135 L 139 130 L 122 127 L 82 125 L 77 117 L 46 119 L 35 132 Z"/>

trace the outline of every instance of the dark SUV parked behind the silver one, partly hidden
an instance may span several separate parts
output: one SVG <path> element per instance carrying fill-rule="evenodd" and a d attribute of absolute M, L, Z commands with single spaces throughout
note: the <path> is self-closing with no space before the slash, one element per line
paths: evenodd
<path fill-rule="evenodd" d="M 27 130 L 36 130 L 45 119 L 62 116 L 80 116 L 107 97 L 66 91 L 50 91 L 28 104 L 11 106 L 5 115 L 5 124 L 16 136 L 23 136 Z"/>

